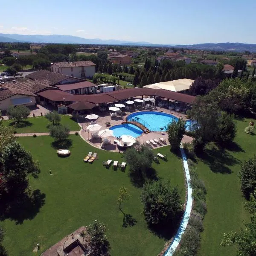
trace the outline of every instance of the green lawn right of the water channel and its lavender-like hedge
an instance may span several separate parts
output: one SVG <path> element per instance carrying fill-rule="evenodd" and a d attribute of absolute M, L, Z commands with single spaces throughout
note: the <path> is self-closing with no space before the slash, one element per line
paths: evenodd
<path fill-rule="evenodd" d="M 252 120 L 240 119 L 237 122 L 233 149 L 220 152 L 209 146 L 204 156 L 198 159 L 198 171 L 207 188 L 208 211 L 198 255 L 236 255 L 235 246 L 221 247 L 220 242 L 223 233 L 238 231 L 243 227 L 242 221 L 249 220 L 238 172 L 241 161 L 255 154 L 256 136 L 244 133 L 244 127 Z"/>

